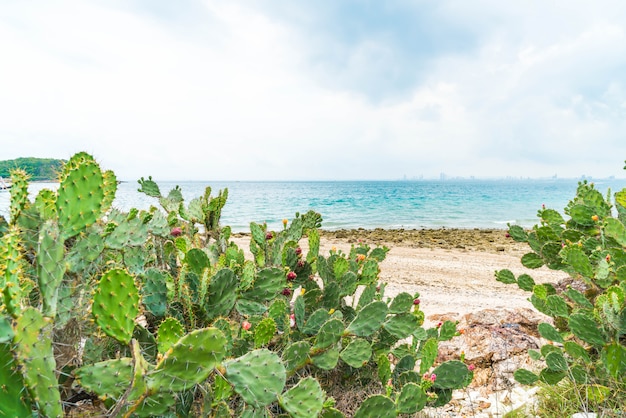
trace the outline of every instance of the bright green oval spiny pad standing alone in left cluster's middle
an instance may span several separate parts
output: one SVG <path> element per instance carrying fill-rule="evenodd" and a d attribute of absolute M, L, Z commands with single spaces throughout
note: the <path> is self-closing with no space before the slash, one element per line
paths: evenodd
<path fill-rule="evenodd" d="M 109 270 L 102 275 L 91 312 L 108 336 L 128 344 L 139 313 L 139 293 L 133 277 L 121 269 Z"/>

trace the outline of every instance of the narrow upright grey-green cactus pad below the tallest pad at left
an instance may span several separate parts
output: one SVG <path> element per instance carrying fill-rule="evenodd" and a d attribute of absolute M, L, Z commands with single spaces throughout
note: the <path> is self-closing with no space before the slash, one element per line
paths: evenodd
<path fill-rule="evenodd" d="M 38 283 L 43 300 L 42 313 L 50 318 L 56 315 L 59 285 L 65 274 L 64 253 L 65 246 L 59 239 L 57 225 L 51 221 L 44 223 L 39 233 L 37 251 Z"/>

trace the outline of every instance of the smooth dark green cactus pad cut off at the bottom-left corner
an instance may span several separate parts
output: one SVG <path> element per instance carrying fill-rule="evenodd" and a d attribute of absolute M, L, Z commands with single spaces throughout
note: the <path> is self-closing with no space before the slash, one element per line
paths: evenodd
<path fill-rule="evenodd" d="M 17 371 L 17 364 L 9 344 L 0 343 L 0 416 L 31 416 L 28 393 L 24 390 L 24 380 Z"/>

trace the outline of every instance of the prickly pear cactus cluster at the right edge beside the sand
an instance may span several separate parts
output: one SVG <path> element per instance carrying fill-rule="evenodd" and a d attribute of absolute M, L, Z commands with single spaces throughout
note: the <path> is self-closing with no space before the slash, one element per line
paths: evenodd
<path fill-rule="evenodd" d="M 516 379 L 523 384 L 570 379 L 597 389 L 590 399 L 601 405 L 626 374 L 626 189 L 604 197 L 592 183 L 581 182 L 564 213 L 569 218 L 544 207 L 538 225 L 529 231 L 510 225 L 508 234 L 529 245 L 524 266 L 564 271 L 571 285 L 536 284 L 510 270 L 496 272 L 496 279 L 531 292 L 533 306 L 554 319 L 554 325 L 538 327 L 551 344 L 530 353 L 545 367 L 538 373 L 519 369 Z"/>

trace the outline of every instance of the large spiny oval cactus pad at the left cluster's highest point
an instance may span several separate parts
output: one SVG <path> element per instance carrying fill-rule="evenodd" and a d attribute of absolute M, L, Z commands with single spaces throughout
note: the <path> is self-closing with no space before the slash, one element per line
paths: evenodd
<path fill-rule="evenodd" d="M 84 161 L 65 170 L 56 201 L 62 239 L 77 235 L 100 217 L 103 184 L 102 172 L 95 162 Z"/>

